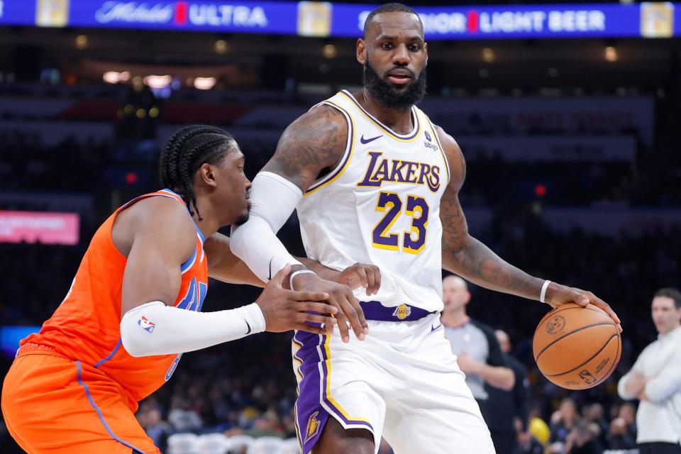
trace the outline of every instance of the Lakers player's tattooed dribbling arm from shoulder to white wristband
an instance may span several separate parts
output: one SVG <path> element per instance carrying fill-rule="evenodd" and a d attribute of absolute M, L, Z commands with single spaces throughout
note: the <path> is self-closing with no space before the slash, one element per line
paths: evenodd
<path fill-rule="evenodd" d="M 468 233 L 458 196 L 466 175 L 466 162 L 455 140 L 441 128 L 437 130 L 449 160 L 451 175 L 440 204 L 443 267 L 482 287 L 538 299 L 542 279 L 510 265 Z"/>

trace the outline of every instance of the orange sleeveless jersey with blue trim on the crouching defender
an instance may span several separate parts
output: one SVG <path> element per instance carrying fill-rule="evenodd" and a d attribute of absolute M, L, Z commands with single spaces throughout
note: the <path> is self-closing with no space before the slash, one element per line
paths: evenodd
<path fill-rule="evenodd" d="M 145 194 L 121 206 L 99 227 L 87 248 L 66 298 L 40 333 L 31 334 L 21 345 L 45 345 L 74 361 L 92 365 L 116 380 L 128 392 L 133 411 L 137 402 L 167 382 L 175 371 L 179 355 L 133 358 L 121 345 L 121 292 L 127 258 L 111 239 L 116 214 L 141 199 L 164 196 L 184 205 L 182 197 L 169 189 Z M 189 216 L 189 211 L 187 211 Z M 182 285 L 174 306 L 200 311 L 208 290 L 208 260 L 204 236 L 196 227 L 196 250 L 180 268 Z M 138 324 L 153 331 L 155 324 L 142 317 Z"/>

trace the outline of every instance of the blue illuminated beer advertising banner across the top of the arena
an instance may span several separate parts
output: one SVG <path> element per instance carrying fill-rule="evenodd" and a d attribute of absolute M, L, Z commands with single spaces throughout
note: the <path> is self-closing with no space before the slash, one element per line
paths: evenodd
<path fill-rule="evenodd" d="M 0 25 L 146 28 L 355 38 L 376 5 L 319 1 L 0 0 Z M 424 6 L 428 40 L 669 38 L 681 4 Z"/>

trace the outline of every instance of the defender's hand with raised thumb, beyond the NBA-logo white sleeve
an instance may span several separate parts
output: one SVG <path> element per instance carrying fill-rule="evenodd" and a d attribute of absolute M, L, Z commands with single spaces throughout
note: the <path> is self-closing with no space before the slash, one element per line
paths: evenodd
<path fill-rule="evenodd" d="M 333 315 L 338 309 L 331 304 L 319 302 L 327 301 L 328 293 L 294 292 L 284 289 L 282 282 L 290 271 L 291 265 L 286 265 L 280 270 L 255 301 L 265 316 L 265 331 L 281 333 L 298 329 L 315 334 L 331 334 L 333 325 L 336 324 Z M 313 326 L 309 323 L 322 323 L 323 326 Z"/>

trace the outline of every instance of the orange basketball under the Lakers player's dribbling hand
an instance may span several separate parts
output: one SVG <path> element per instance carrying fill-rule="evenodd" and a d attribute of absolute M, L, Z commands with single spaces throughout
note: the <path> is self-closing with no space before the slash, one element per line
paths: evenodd
<path fill-rule="evenodd" d="M 610 376 L 622 352 L 614 321 L 589 304 L 563 304 L 539 322 L 532 341 L 534 360 L 550 382 L 587 389 Z"/>

